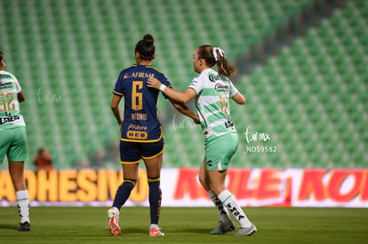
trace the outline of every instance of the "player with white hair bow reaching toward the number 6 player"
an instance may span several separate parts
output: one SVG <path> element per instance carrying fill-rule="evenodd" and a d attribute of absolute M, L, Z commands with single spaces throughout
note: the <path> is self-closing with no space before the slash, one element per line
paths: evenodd
<path fill-rule="evenodd" d="M 215 65 L 217 71 L 213 69 Z M 196 99 L 205 138 L 205 156 L 199 170 L 199 180 L 220 213 L 220 225 L 211 233 L 223 234 L 235 230 L 228 216 L 230 212 L 240 225 L 235 235 L 252 235 L 257 232 L 256 226 L 249 221 L 234 195 L 225 186 L 228 164 L 238 145 L 236 128 L 230 117 L 229 98 L 240 105 L 245 103 L 243 94 L 237 91 L 228 78 L 235 75 L 236 71 L 228 65 L 225 52 L 211 45 L 196 49 L 193 67 L 199 75 L 184 92 L 166 87 L 155 78 L 148 79 L 148 87 L 156 88 L 167 97 L 182 103 Z"/>

